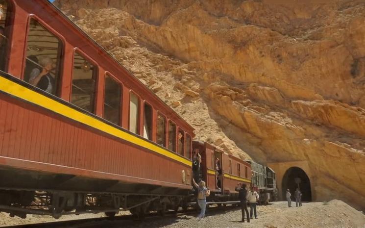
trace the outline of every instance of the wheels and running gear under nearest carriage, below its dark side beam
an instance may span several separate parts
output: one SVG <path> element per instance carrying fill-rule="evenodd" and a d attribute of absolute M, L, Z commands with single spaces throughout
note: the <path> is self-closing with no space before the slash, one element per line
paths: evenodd
<path fill-rule="evenodd" d="M 129 195 L 111 193 L 76 193 L 67 191 L 0 190 L 0 211 L 11 217 L 26 218 L 27 214 L 62 215 L 100 213 L 114 216 L 129 210 L 143 218 L 150 211 L 164 215 L 168 210 L 187 207 L 182 196 Z"/>

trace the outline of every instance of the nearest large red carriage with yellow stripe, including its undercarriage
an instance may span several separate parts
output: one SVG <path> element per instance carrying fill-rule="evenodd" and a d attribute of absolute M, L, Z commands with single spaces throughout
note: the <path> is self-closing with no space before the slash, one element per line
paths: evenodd
<path fill-rule="evenodd" d="M 48 1 L 0 4 L 0 210 L 178 206 L 193 127 Z"/>

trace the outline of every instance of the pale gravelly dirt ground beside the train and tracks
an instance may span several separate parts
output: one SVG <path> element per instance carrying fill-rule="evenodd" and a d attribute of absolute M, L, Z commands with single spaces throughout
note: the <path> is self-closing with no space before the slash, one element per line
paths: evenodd
<path fill-rule="evenodd" d="M 70 220 L 97 215 L 63 216 L 59 220 Z M 365 215 L 342 201 L 333 200 L 328 203 L 303 203 L 302 207 L 287 206 L 286 202 L 275 202 L 266 206 L 258 206 L 258 219 L 250 223 L 241 223 L 241 211 L 229 210 L 225 213 L 207 212 L 204 219 L 198 220 L 194 215 L 153 218 L 145 221 L 122 222 L 123 228 L 365 228 Z M 48 216 L 28 216 L 27 219 L 10 218 L 0 214 L 0 226 L 20 225 L 55 221 Z M 107 222 L 113 223 L 113 222 Z M 105 227 L 112 224 L 105 224 Z M 113 224 L 113 227 L 116 227 Z"/>

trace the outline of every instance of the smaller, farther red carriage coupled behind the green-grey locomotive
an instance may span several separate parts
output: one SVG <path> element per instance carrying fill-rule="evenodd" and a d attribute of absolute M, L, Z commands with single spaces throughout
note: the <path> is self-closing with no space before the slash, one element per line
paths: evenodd
<path fill-rule="evenodd" d="M 251 165 L 206 142 L 193 142 L 193 150 L 201 155 L 201 179 L 211 190 L 209 201 L 229 202 L 238 200 L 238 183 L 251 184 Z M 218 159 L 217 159 L 218 158 Z"/>

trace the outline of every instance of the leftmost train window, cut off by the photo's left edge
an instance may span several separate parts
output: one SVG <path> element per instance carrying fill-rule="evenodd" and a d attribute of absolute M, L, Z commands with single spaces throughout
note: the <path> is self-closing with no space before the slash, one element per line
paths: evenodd
<path fill-rule="evenodd" d="M 7 0 L 0 0 L 0 70 L 5 71 L 10 24 L 10 9 Z"/>

